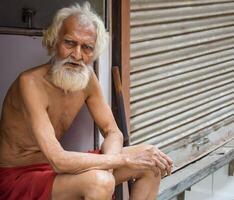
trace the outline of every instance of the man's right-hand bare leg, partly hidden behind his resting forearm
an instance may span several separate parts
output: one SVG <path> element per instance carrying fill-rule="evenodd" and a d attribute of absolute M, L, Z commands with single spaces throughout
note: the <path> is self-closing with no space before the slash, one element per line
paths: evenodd
<path fill-rule="evenodd" d="M 125 147 L 123 153 L 140 152 L 146 145 L 137 145 L 131 147 Z M 119 168 L 114 171 L 114 177 L 116 184 L 127 181 L 131 178 L 135 179 L 132 192 L 130 194 L 130 200 L 155 200 L 158 194 L 161 174 L 155 176 L 150 170 L 132 170 L 129 168 Z"/>

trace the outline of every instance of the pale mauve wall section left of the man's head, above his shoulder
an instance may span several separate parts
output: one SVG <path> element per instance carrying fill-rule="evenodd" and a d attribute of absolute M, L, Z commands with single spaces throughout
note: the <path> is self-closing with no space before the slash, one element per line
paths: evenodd
<path fill-rule="evenodd" d="M 48 60 L 39 37 L 0 35 L 0 106 L 20 72 Z"/>

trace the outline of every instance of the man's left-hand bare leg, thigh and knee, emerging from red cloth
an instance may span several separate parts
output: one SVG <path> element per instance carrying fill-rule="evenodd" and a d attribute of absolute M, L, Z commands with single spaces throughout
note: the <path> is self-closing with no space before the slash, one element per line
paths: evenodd
<path fill-rule="evenodd" d="M 115 180 L 104 170 L 91 170 L 78 175 L 57 175 L 52 189 L 52 200 L 110 200 Z"/>

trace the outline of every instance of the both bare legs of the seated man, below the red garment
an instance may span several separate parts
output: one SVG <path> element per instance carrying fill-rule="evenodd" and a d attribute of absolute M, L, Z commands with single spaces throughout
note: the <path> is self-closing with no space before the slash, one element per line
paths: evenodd
<path fill-rule="evenodd" d="M 140 152 L 146 145 L 131 146 L 123 153 Z M 113 175 L 104 170 L 91 170 L 78 175 L 57 175 L 52 189 L 52 200 L 110 200 L 115 185 L 135 179 L 130 200 L 155 200 L 161 175 L 155 177 L 150 170 L 132 170 L 122 167 Z"/>

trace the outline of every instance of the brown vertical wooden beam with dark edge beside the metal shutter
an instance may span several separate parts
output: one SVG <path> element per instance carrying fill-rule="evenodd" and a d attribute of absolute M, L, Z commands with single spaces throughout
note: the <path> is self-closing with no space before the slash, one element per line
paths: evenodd
<path fill-rule="evenodd" d="M 130 0 L 112 0 L 112 66 L 119 66 L 130 130 Z"/>

